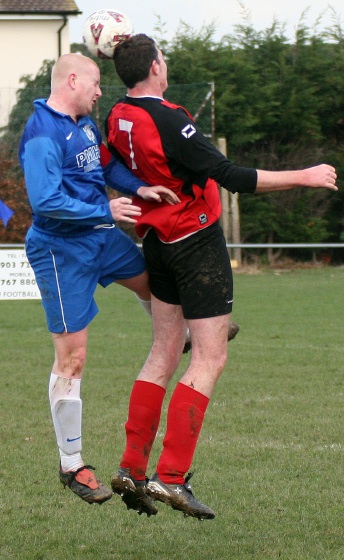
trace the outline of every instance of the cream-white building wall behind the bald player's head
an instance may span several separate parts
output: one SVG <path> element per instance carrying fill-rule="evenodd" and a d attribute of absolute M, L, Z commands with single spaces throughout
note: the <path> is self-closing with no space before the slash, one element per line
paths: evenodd
<path fill-rule="evenodd" d="M 44 60 L 58 57 L 62 18 L 16 16 L 0 19 L 0 127 L 8 122 L 23 75 L 36 76 Z M 61 54 L 70 52 L 69 22 L 61 32 Z"/>

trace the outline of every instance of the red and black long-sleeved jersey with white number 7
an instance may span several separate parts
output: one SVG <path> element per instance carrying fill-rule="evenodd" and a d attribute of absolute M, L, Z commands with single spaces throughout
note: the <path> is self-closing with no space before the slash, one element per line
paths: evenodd
<path fill-rule="evenodd" d="M 181 203 L 148 202 L 136 231 L 144 237 L 153 227 L 172 243 L 213 224 L 221 214 L 219 183 L 231 192 L 254 192 L 255 169 L 229 162 L 197 128 L 183 107 L 154 97 L 126 97 L 106 120 L 109 149 L 142 181 L 176 192 Z"/>

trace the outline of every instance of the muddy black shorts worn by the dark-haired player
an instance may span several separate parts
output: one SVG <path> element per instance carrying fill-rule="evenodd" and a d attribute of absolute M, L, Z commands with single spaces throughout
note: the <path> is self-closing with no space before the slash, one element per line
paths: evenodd
<path fill-rule="evenodd" d="M 233 275 L 218 222 L 175 243 L 163 243 L 151 229 L 143 251 L 152 294 L 181 305 L 185 319 L 231 313 Z"/>

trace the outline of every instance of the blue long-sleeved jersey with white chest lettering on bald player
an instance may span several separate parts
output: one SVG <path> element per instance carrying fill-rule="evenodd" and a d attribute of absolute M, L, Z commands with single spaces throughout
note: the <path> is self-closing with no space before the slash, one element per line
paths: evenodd
<path fill-rule="evenodd" d="M 90 117 L 75 123 L 44 99 L 34 107 L 19 147 L 33 228 L 69 237 L 113 224 L 106 185 L 134 195 L 144 183 L 114 158 L 102 167 L 101 134 Z"/>

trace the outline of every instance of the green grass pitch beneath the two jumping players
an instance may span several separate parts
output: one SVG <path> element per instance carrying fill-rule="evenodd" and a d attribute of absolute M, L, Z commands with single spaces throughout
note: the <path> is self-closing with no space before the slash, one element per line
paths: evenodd
<path fill-rule="evenodd" d="M 1 301 L 0 559 L 342 560 L 343 287 L 343 268 L 235 274 L 241 332 L 193 464 L 193 490 L 217 514 L 203 522 L 164 504 L 154 518 L 138 516 L 118 496 L 90 506 L 63 490 L 41 304 Z M 99 289 L 97 302 L 82 386 L 83 456 L 110 483 L 151 331 L 123 288 Z"/>

